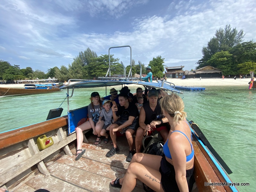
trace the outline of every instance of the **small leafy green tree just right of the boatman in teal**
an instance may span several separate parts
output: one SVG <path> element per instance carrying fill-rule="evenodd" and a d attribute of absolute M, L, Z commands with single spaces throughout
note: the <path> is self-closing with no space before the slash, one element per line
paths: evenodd
<path fill-rule="evenodd" d="M 154 57 L 148 64 L 152 69 L 152 75 L 154 77 L 162 78 L 164 72 L 164 58 L 161 56 Z"/>

